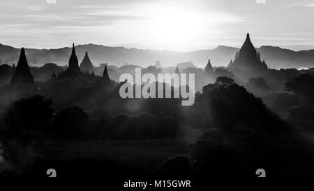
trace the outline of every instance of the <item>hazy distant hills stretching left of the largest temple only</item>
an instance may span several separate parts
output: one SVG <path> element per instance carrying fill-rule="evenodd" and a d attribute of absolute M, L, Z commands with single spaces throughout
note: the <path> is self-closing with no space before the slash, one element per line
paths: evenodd
<path fill-rule="evenodd" d="M 68 64 L 71 48 L 59 49 L 25 49 L 29 65 L 43 66 L 45 63 Z M 154 65 L 157 60 L 162 66 L 173 66 L 182 62 L 193 62 L 196 66 L 206 66 L 211 58 L 215 65 L 226 65 L 234 57 L 237 48 L 220 46 L 213 50 L 197 50 L 193 52 L 173 52 L 168 50 L 142 50 L 137 48 L 107 47 L 103 45 L 77 45 L 75 46 L 77 58 L 82 61 L 85 52 L 89 52 L 91 62 L 99 66 L 101 63 L 134 64 L 139 66 Z M 20 49 L 0 44 L 0 64 L 16 63 Z"/>

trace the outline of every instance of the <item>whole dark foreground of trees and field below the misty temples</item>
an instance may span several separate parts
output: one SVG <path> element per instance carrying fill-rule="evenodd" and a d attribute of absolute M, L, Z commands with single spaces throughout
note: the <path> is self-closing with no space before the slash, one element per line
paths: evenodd
<path fill-rule="evenodd" d="M 312 145 L 301 139 L 300 129 L 295 130 L 300 122 L 307 129 L 313 127 L 311 110 L 304 110 L 309 115 L 295 114 L 312 103 L 312 78 L 299 76 L 286 83 L 286 90 L 293 93 L 289 96 L 302 100 L 289 110 L 287 121 L 227 77 L 204 86 L 188 110 L 174 101 L 178 105 L 172 106 L 176 109 L 171 114 L 167 107 L 156 113 L 149 106 L 156 105 L 155 100 L 120 101 L 117 111 L 108 112 L 99 106 L 113 108 L 119 98 L 112 96 L 93 107 L 73 99 L 82 107 L 62 108 L 43 92 L 24 97 L 8 104 L 1 115 L 1 176 L 45 177 L 52 167 L 60 177 L 110 175 L 112 180 L 234 178 L 230 172 L 237 178 L 255 178 L 259 168 L 274 178 L 313 176 Z M 105 95 L 116 89 L 97 90 Z M 121 113 L 120 108 L 128 106 L 130 110 Z M 99 112 L 105 113 L 103 118 Z M 182 138 L 190 129 L 199 132 L 193 143 Z"/>

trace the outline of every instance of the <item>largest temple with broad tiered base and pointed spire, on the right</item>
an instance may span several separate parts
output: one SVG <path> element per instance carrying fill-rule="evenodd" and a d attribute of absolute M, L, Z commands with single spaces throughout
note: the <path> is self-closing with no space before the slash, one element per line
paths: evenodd
<path fill-rule="evenodd" d="M 265 62 L 261 62 L 260 53 L 254 48 L 250 34 L 246 35 L 246 41 L 239 52 L 237 52 L 234 62 L 230 62 L 228 68 L 232 71 L 238 70 L 245 73 L 252 73 L 252 75 L 259 75 L 267 71 L 268 66 Z"/>

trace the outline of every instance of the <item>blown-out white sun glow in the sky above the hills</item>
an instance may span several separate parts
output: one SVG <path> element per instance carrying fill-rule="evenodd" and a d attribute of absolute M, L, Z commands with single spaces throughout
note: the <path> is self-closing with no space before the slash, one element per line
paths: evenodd
<path fill-rule="evenodd" d="M 239 22 L 234 15 L 196 8 L 158 6 L 146 9 L 147 17 L 137 25 L 139 38 L 157 49 L 188 51 L 216 43 L 225 24 Z M 194 48 L 193 48 L 194 47 Z"/>

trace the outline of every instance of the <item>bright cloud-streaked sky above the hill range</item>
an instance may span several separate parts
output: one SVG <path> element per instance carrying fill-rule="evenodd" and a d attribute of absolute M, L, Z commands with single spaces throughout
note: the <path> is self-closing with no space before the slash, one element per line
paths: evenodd
<path fill-rule="evenodd" d="M 0 0 L 0 43 L 61 48 L 96 43 L 158 50 L 314 48 L 314 1 Z"/>

